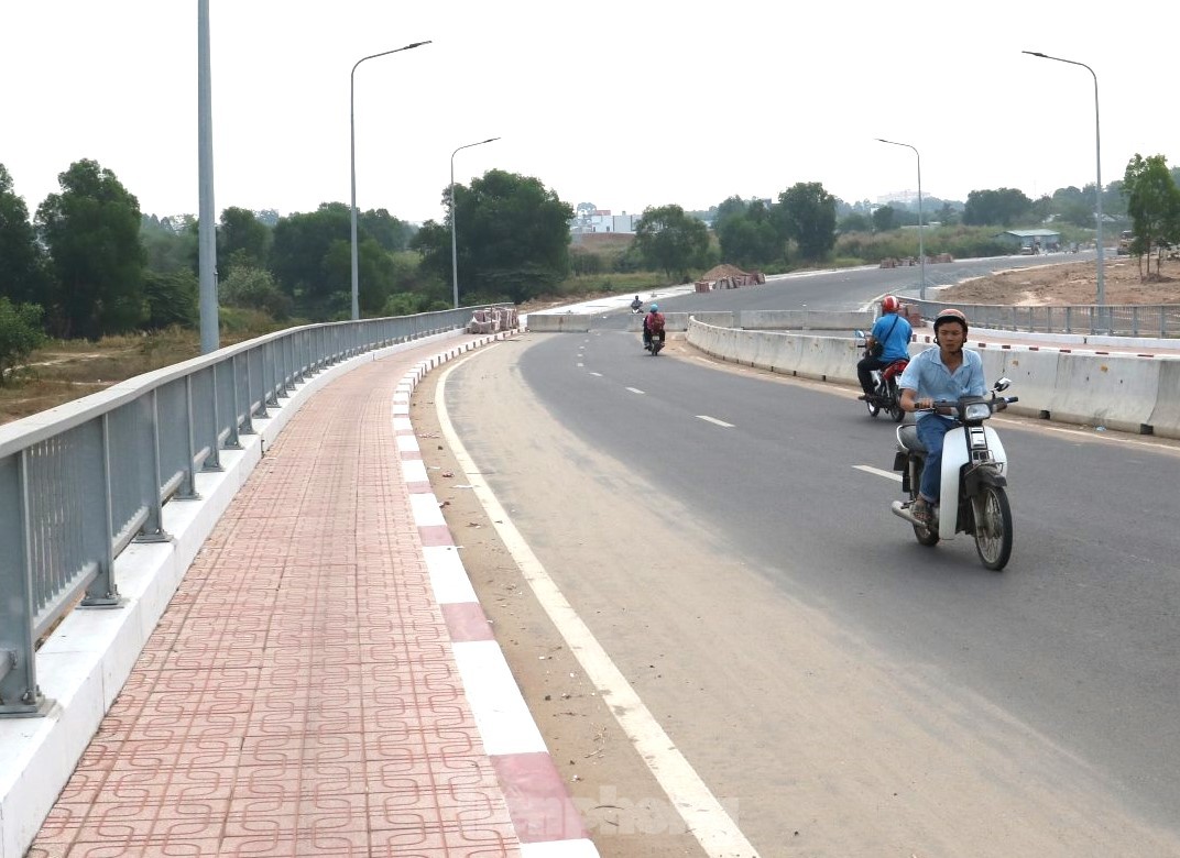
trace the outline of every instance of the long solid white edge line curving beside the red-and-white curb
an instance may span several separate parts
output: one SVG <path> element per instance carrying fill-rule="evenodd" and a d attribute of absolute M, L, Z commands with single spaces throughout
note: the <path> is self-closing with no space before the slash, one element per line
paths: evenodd
<path fill-rule="evenodd" d="M 582 618 L 575 613 L 573 607 L 549 576 L 545 567 L 540 565 L 520 532 L 516 529 L 496 495 L 487 486 L 476 481 L 474 476 L 478 474 L 476 463 L 467 455 L 466 448 L 454 433 L 451 415 L 446 408 L 445 394 L 447 377 L 470 359 L 471 357 L 467 357 L 450 364 L 439 376 L 434 392 L 434 408 L 438 411 L 442 436 L 451 446 L 451 451 L 459 462 L 459 467 L 463 468 L 467 482 L 472 483 L 472 490 L 493 522 L 496 533 L 520 568 L 520 573 L 529 582 L 529 587 L 532 588 L 537 601 L 565 639 L 569 651 L 577 658 L 582 669 L 586 672 L 586 676 L 602 689 L 602 697 L 609 704 L 620 727 L 631 740 L 640 757 L 648 764 L 648 770 L 668 794 L 673 806 L 680 811 L 688 831 L 701 844 L 706 853 L 758 854 L 721 801 L 684 759 L 684 754 L 673 745 L 671 738 L 660 726 L 660 722 L 640 699 L 640 695 L 635 693 L 615 662 L 610 660 L 607 651 L 603 649 Z"/>

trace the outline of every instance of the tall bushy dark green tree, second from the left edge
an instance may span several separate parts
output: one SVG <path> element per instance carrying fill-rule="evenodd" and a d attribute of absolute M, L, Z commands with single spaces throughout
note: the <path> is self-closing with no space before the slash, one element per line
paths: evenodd
<path fill-rule="evenodd" d="M 144 319 L 139 200 L 88 159 L 58 180 L 61 193 L 37 210 L 55 275 L 51 325 L 63 337 L 87 339 L 133 330 Z"/>

